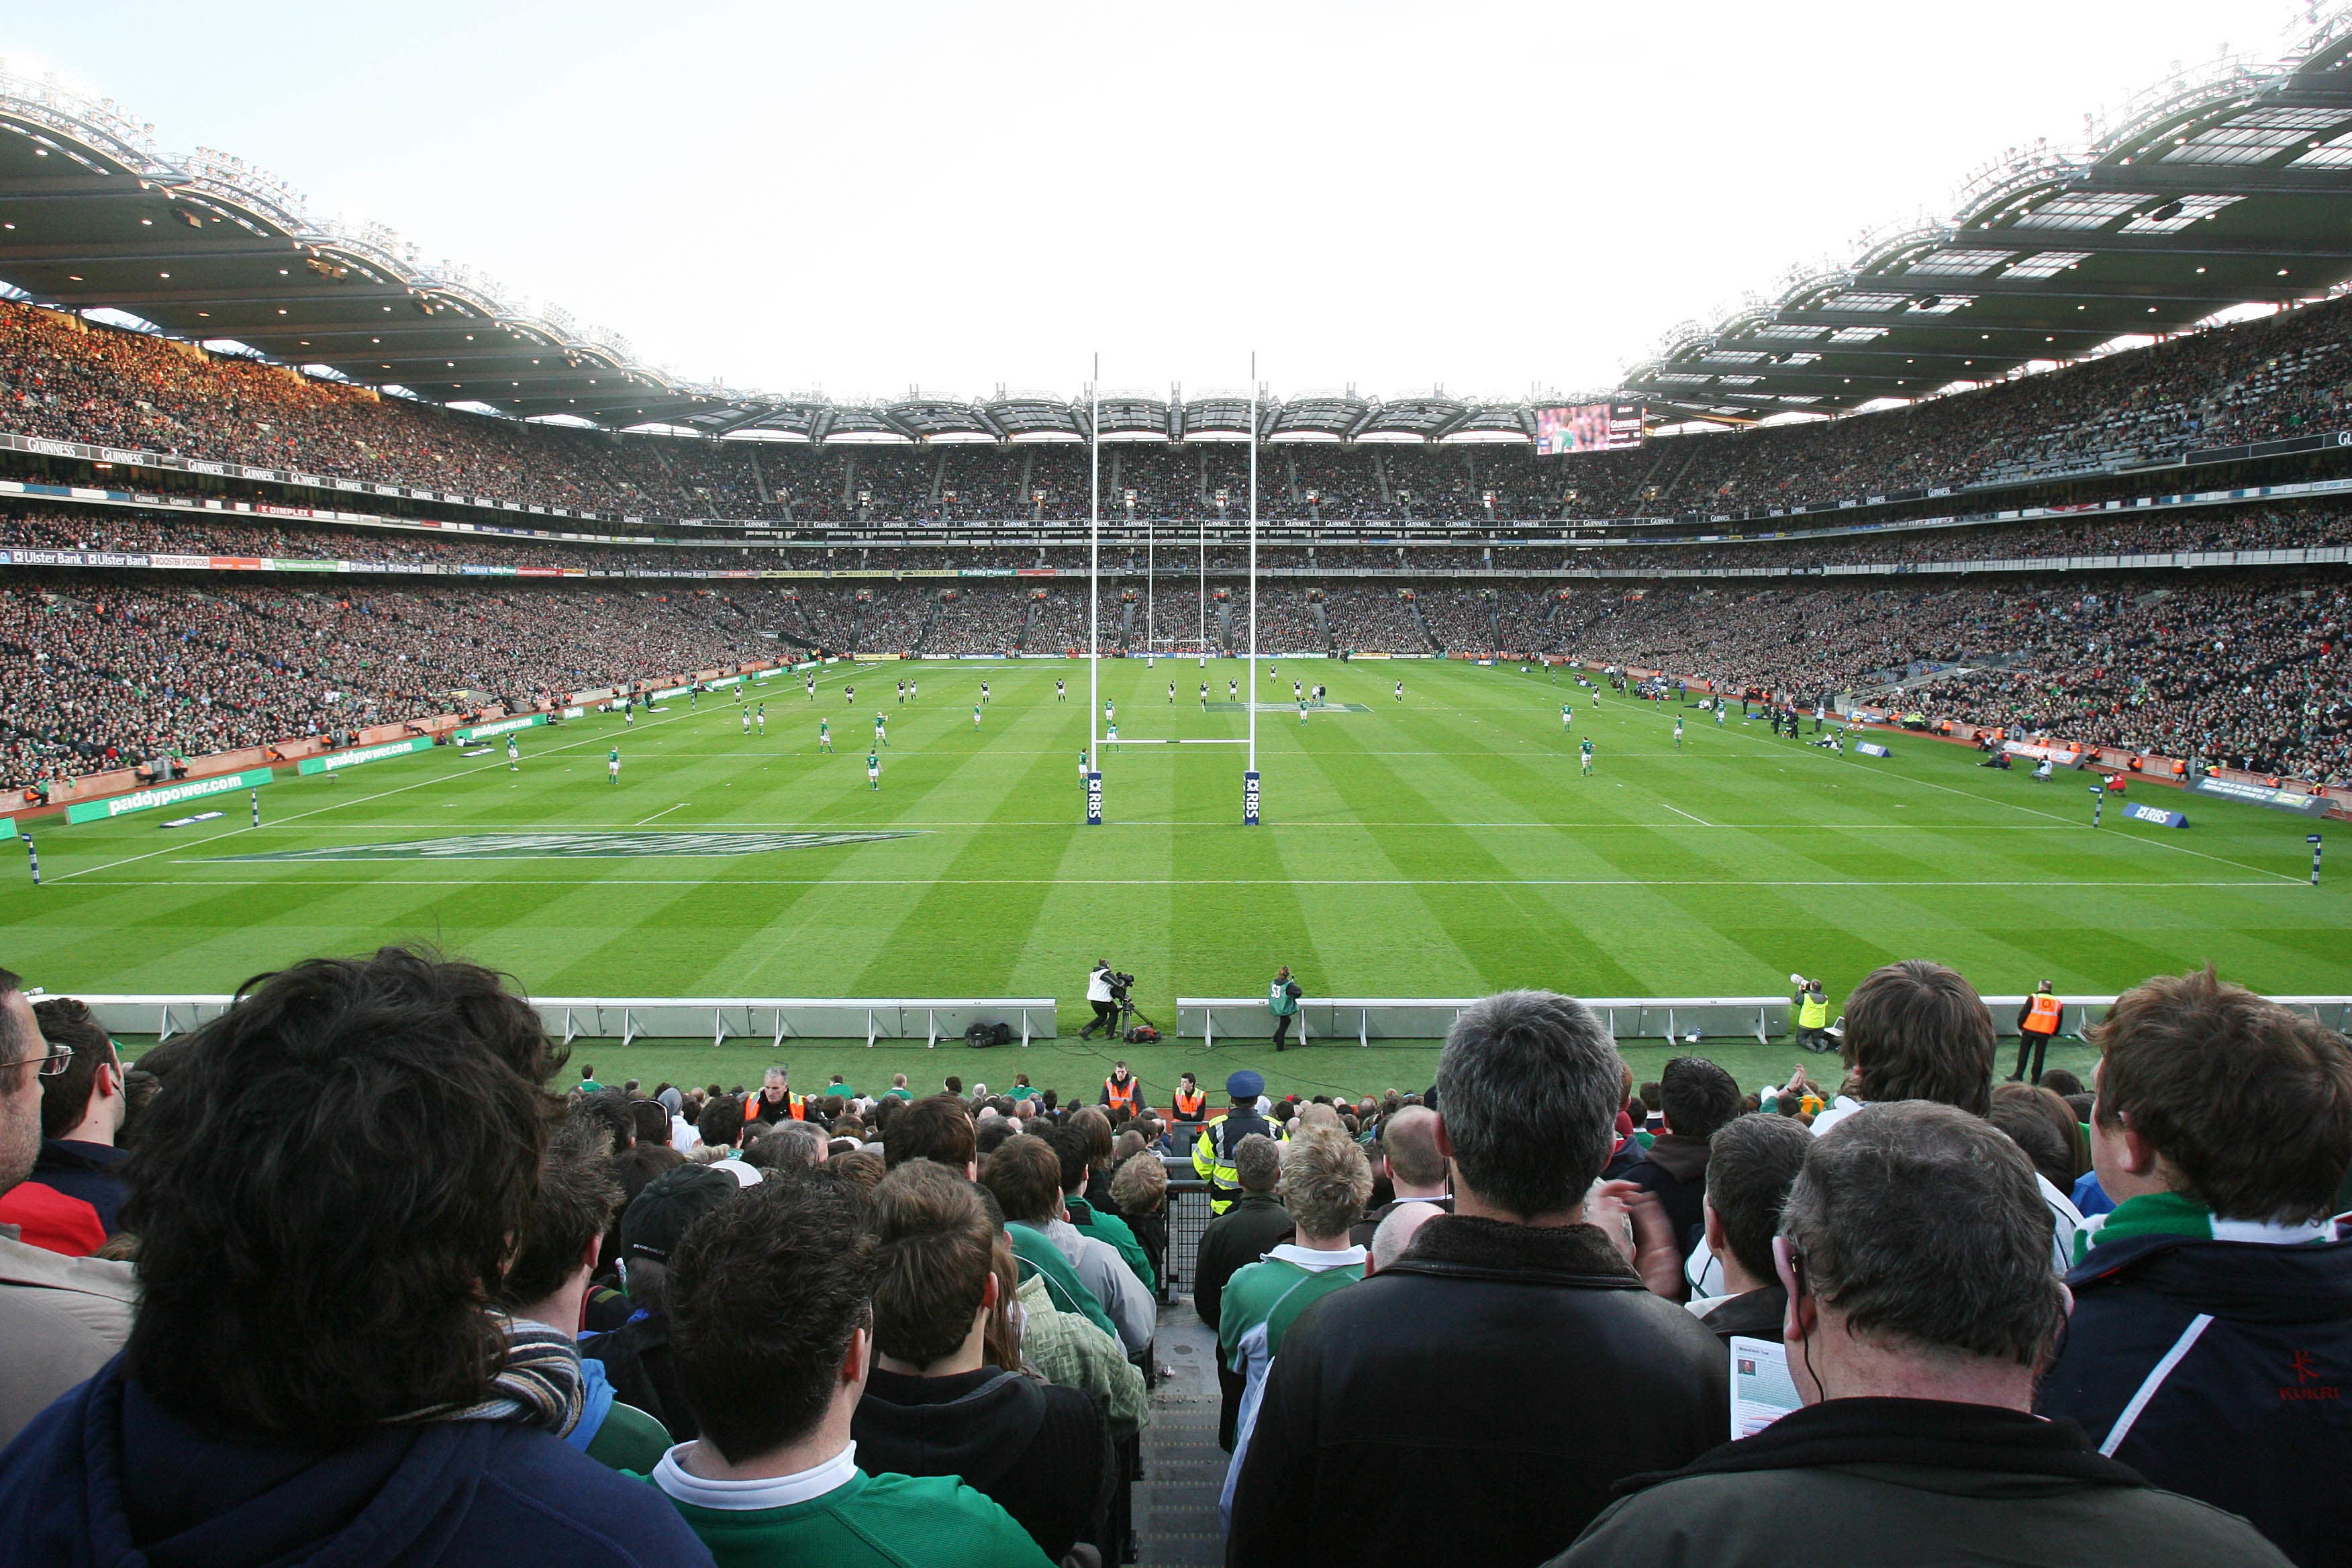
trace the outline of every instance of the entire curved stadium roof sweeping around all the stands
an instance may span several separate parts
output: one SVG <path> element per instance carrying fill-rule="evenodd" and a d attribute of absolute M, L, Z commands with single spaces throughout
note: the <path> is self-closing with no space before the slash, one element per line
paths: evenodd
<path fill-rule="evenodd" d="M 383 226 L 320 219 L 238 158 L 167 158 L 153 127 L 54 82 L 0 75 L 0 277 L 348 381 L 520 418 L 783 442 L 1073 442 L 1058 393 L 910 393 L 849 404 L 687 381 L 555 306 L 527 306 Z M 1618 390 L 1651 423 L 1837 414 L 1997 381 L 2227 308 L 2352 280 L 2352 0 L 2284 61 L 2218 61 L 2140 94 L 2084 146 L 2011 150 L 1952 216 L 1792 268 L 1712 327 L 1675 327 Z M 1265 440 L 1529 440 L 1529 400 L 1296 393 Z M 1247 393 L 1105 393 L 1110 440 L 1247 440 Z"/>

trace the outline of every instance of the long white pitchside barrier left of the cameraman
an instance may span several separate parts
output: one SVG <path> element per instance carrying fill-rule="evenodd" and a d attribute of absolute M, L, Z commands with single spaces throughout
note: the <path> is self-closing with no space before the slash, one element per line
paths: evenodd
<path fill-rule="evenodd" d="M 158 1041 L 186 1034 L 228 1011 L 221 994 L 111 994 L 80 997 L 101 1027 L 115 1034 L 153 1034 Z M 532 1009 L 548 1034 L 574 1039 L 920 1039 L 938 1046 L 941 1034 L 960 1037 L 974 1023 L 1018 1030 L 1021 1044 L 1054 1039 L 1054 997 L 536 997 Z"/>

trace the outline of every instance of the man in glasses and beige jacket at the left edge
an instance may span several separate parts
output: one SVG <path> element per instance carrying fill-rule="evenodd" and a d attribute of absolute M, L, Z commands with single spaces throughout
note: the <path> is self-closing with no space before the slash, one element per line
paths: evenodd
<path fill-rule="evenodd" d="M 35 994 L 0 969 L 0 1194 L 40 1159 L 42 1077 L 73 1063 L 42 1039 Z M 122 1349 L 134 1300 L 132 1265 L 64 1258 L 0 1225 L 0 1443 Z"/>

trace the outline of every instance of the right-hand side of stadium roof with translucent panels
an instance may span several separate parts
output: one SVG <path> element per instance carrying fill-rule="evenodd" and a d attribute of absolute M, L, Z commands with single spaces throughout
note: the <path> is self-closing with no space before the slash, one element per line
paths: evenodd
<path fill-rule="evenodd" d="M 2089 120 L 2089 118 L 2086 118 Z M 1628 393 L 1759 418 L 1924 397 L 2352 280 L 2352 7 L 2284 61 L 2150 87 L 2084 146 L 2006 153 L 1938 223 L 1675 327 Z"/>

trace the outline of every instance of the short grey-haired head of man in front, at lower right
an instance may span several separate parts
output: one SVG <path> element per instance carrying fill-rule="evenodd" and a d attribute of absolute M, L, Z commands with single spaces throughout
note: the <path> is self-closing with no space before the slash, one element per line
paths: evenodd
<path fill-rule="evenodd" d="M 1950 1105 L 1865 1105 L 1816 1138 L 1776 1253 L 1806 1401 L 1929 1382 L 2030 1408 L 2065 1331 L 2032 1166 Z"/>

